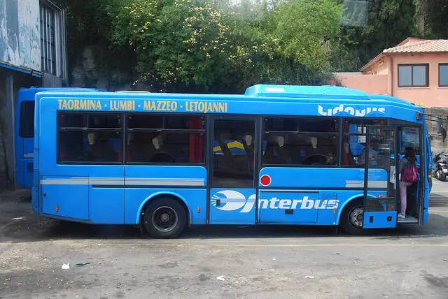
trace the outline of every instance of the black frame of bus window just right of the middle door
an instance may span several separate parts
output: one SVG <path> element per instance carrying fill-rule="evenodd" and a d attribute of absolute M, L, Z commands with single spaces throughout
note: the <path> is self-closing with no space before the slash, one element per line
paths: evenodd
<path fill-rule="evenodd" d="M 334 119 L 337 121 L 337 131 L 335 132 L 310 132 L 310 131 L 265 131 L 263 121 L 267 118 L 281 118 L 281 119 L 316 119 L 316 117 L 311 116 L 301 116 L 301 115 L 262 115 L 261 123 L 260 123 L 260 131 L 261 131 L 261 143 L 258 145 L 260 150 L 260 170 L 266 167 L 281 167 L 281 168 L 340 168 L 341 163 L 341 129 L 342 129 L 342 117 L 318 117 L 318 119 Z M 332 165 L 312 165 L 312 164 L 297 164 L 297 163 L 288 163 L 288 164 L 276 164 L 276 163 L 264 163 L 263 157 L 263 141 L 265 140 L 265 133 L 287 133 L 287 134 L 316 134 L 316 135 L 332 135 L 336 136 L 336 155 L 335 164 Z"/>

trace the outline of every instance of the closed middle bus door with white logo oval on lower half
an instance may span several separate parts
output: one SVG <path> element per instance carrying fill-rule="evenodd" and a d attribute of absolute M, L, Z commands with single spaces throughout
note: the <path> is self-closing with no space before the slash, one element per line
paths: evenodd
<path fill-rule="evenodd" d="M 255 224 L 258 122 L 211 117 L 209 224 Z"/>

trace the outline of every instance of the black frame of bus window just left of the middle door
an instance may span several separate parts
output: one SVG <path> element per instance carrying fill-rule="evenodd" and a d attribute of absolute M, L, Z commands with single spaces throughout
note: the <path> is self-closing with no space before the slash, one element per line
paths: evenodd
<path fill-rule="evenodd" d="M 163 117 L 162 119 L 162 129 L 151 129 L 151 128 L 129 128 L 128 126 L 128 117 L 130 115 L 145 115 L 145 116 L 158 116 L 158 117 Z M 204 126 L 203 129 L 165 129 L 165 125 L 167 124 L 166 122 L 166 117 L 200 117 L 202 118 L 203 122 L 204 122 Z M 127 112 L 125 113 L 125 121 L 124 121 L 124 134 L 125 134 L 125 138 L 123 138 L 123 153 L 124 153 L 124 162 L 125 165 L 146 165 L 146 166 L 151 166 L 151 165 L 157 165 L 157 166 L 205 166 L 207 163 L 207 121 L 208 121 L 208 117 L 206 115 L 201 115 L 201 114 L 196 114 L 196 113 L 147 113 L 147 112 Z M 185 163 L 179 163 L 179 162 L 174 162 L 174 163 L 163 163 L 163 162 L 132 162 L 132 161 L 128 161 L 128 156 L 127 156 L 127 151 L 128 151 L 128 144 L 127 144 L 127 140 L 129 138 L 128 133 L 130 132 L 173 132 L 173 133 L 185 133 L 185 134 L 190 134 L 190 133 L 196 133 L 196 134 L 200 134 L 202 133 L 202 136 L 204 138 L 204 142 L 202 145 L 202 162 L 185 162 Z"/>

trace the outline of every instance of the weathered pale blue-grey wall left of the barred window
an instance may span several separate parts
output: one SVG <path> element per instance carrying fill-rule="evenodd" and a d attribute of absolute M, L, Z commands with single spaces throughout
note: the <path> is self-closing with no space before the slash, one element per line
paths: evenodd
<path fill-rule="evenodd" d="M 41 71 L 38 0 L 0 0 L 0 61 Z"/>

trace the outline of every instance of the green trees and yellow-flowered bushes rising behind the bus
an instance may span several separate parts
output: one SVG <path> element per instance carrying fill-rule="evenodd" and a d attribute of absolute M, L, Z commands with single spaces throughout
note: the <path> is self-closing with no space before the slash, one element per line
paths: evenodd
<path fill-rule="evenodd" d="M 357 71 L 384 48 L 415 36 L 421 14 L 427 36 L 444 38 L 448 32 L 447 0 L 57 3 L 68 11 L 71 66 L 92 47 L 96 68 L 109 82 L 118 71 L 128 81 L 137 78 L 140 86 L 164 92 L 317 85 L 331 71 Z M 94 85 L 97 78 L 90 80 Z"/>

